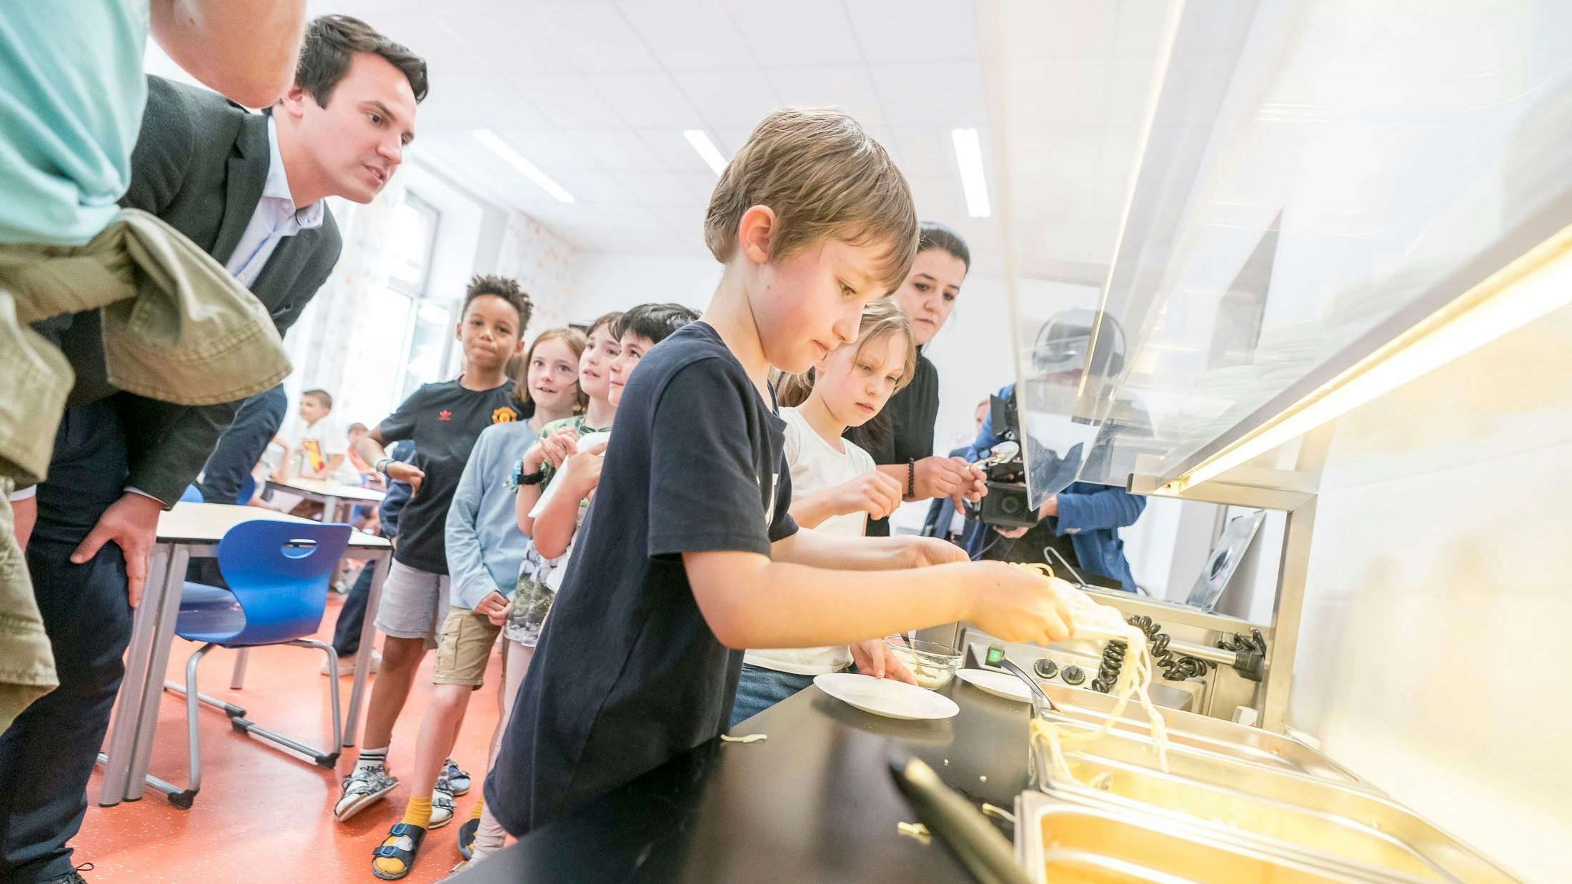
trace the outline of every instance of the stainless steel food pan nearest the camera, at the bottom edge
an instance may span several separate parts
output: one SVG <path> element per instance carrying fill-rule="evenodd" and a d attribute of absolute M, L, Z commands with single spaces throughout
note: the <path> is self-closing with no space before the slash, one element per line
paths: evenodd
<path fill-rule="evenodd" d="M 1416 881 L 1342 867 L 1248 834 L 1042 793 L 1023 793 L 1016 804 L 1016 857 L 1042 884 Z"/>

